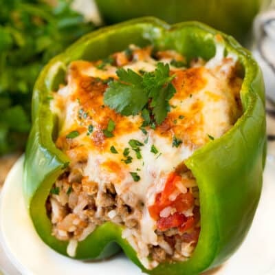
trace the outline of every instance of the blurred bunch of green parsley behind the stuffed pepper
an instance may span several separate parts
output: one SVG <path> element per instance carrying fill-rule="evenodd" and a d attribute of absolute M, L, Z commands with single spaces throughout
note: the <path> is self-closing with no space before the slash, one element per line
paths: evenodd
<path fill-rule="evenodd" d="M 0 155 L 25 146 L 32 89 L 43 65 L 94 29 L 70 3 L 0 1 Z"/>

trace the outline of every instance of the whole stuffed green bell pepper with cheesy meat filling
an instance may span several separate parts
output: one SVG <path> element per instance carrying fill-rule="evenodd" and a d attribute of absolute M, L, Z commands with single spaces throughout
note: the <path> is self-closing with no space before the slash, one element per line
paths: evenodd
<path fill-rule="evenodd" d="M 261 193 L 263 97 L 250 54 L 206 25 L 145 18 L 84 36 L 34 89 L 36 231 L 76 259 L 121 247 L 151 274 L 223 263 Z"/>

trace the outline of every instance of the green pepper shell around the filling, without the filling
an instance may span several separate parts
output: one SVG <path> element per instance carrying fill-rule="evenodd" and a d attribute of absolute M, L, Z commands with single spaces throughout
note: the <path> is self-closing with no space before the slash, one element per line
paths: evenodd
<path fill-rule="evenodd" d="M 98 60 L 124 50 L 130 43 L 153 44 L 174 49 L 187 60 L 214 56 L 219 34 L 227 52 L 235 54 L 243 67 L 241 102 L 243 115 L 221 138 L 208 142 L 186 159 L 197 179 L 200 192 L 201 232 L 197 247 L 188 261 L 161 263 L 146 270 L 131 245 L 121 234 L 123 228 L 111 222 L 98 226 L 78 243 L 76 259 L 102 259 L 118 252 L 144 272 L 156 275 L 199 274 L 223 263 L 245 238 L 261 195 L 265 159 L 265 108 L 261 70 L 250 53 L 231 36 L 202 23 L 167 25 L 154 18 L 142 18 L 103 28 L 83 36 L 63 54 L 56 56 L 41 72 L 32 100 L 33 126 L 25 153 L 23 192 L 36 231 L 47 245 L 67 255 L 67 242 L 52 236 L 45 201 L 52 184 L 63 173 L 69 159 L 54 140 L 57 121 L 50 111 L 48 96 L 63 83 L 66 66 L 78 59 Z"/>

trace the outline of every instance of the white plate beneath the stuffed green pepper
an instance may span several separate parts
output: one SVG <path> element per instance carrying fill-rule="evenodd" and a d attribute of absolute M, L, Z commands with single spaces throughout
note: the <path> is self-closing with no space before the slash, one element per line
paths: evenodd
<path fill-rule="evenodd" d="M 23 157 L 14 165 L 2 190 L 0 231 L 3 248 L 23 275 L 142 274 L 123 254 L 108 261 L 84 263 L 54 252 L 39 239 L 22 194 Z M 275 159 L 267 157 L 263 193 L 252 228 L 241 248 L 215 275 L 275 274 Z"/>

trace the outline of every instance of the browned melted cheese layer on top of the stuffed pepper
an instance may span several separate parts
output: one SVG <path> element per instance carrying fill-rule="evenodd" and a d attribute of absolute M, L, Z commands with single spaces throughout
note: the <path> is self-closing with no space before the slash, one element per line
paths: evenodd
<path fill-rule="evenodd" d="M 169 56 L 173 54 L 167 52 L 160 61 L 171 61 Z M 135 72 L 155 69 L 157 61 L 148 53 L 136 51 L 135 55 L 137 58 L 125 68 Z M 117 67 L 107 65 L 102 70 L 95 63 L 74 61 L 69 65 L 67 85 L 54 93 L 52 110 L 61 124 L 56 146 L 72 159 L 70 166 L 87 163 L 83 175 L 89 181 L 96 181 L 99 186 L 111 182 L 118 195 L 132 193 L 147 206 L 140 221 L 144 243 L 157 245 L 156 222 L 148 213 L 148 206 L 154 203 L 155 194 L 163 190 L 168 174 L 195 149 L 209 142 L 210 137 L 217 138 L 228 131 L 241 114 L 238 105 L 241 79 L 234 76 L 235 63 L 232 56 L 223 58 L 223 49 L 218 48 L 217 55 L 204 66 L 197 64 L 189 69 L 170 66 L 171 74 L 175 74 L 176 94 L 170 99 L 166 120 L 155 130 L 146 129 L 147 135 L 140 130 L 140 115 L 123 116 L 104 106 L 107 84 L 98 78 L 117 78 Z M 113 137 L 105 137 L 103 130 L 110 119 L 115 122 Z M 80 135 L 66 138 L 72 131 Z M 182 141 L 179 146 L 173 146 L 175 137 Z M 129 140 L 142 142 L 141 159 Z M 111 153 L 111 146 L 118 153 Z M 152 146 L 157 153 L 151 151 Z M 123 161 L 125 148 L 129 148 L 129 156 L 133 158 L 129 164 Z M 137 173 L 140 180 L 134 181 L 131 173 Z"/>

